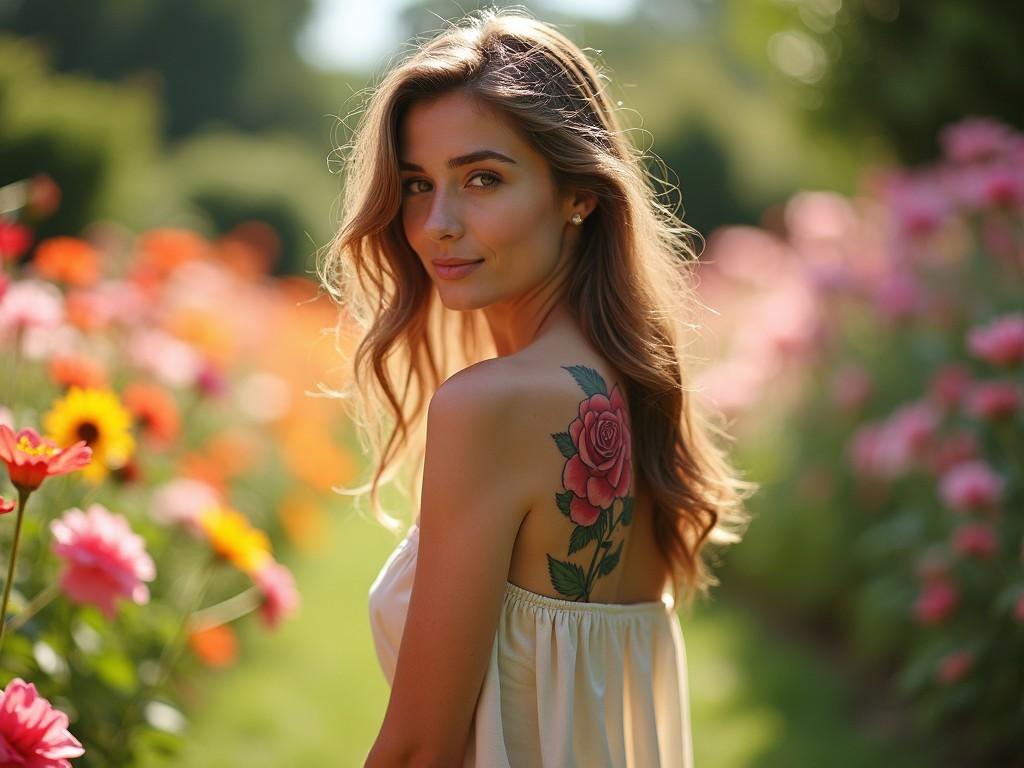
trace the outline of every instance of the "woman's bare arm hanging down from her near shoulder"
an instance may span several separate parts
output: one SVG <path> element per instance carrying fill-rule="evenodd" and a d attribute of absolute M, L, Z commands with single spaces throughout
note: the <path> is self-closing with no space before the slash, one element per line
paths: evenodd
<path fill-rule="evenodd" d="M 526 512 L 509 388 L 468 373 L 427 410 L 416 575 L 375 745 L 425 765 L 462 762 Z"/>

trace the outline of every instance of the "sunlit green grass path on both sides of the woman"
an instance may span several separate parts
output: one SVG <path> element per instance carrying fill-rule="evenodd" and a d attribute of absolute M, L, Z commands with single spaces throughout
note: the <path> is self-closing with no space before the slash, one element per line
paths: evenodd
<path fill-rule="evenodd" d="M 244 620 L 240 666 L 211 671 L 187 702 L 185 750 L 145 768 L 361 765 L 388 696 L 367 592 L 394 546 L 375 522 L 339 517 L 294 568 L 301 613 L 274 634 Z M 838 671 L 725 597 L 684 614 L 683 635 L 699 768 L 926 765 L 857 725 Z"/>

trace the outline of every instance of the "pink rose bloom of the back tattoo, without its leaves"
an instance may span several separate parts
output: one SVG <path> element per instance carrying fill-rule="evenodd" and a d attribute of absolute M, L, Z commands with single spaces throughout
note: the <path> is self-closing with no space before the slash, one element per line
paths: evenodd
<path fill-rule="evenodd" d="M 580 403 L 569 436 L 577 449 L 562 471 L 562 484 L 574 495 L 569 518 L 593 525 L 602 509 L 629 493 L 632 479 L 629 415 L 617 384 L 610 398 L 598 393 Z"/>

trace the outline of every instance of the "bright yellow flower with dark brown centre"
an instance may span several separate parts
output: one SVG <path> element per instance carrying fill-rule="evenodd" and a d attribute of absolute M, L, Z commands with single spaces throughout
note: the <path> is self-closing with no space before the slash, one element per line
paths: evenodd
<path fill-rule="evenodd" d="M 61 447 L 85 440 L 92 461 L 82 476 L 93 484 L 127 464 L 135 452 L 131 414 L 110 389 L 73 386 L 43 417 L 43 429 Z"/>

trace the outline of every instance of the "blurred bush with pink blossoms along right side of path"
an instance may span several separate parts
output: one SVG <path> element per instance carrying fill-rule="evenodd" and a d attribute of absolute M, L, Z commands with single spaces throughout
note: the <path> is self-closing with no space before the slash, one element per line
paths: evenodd
<path fill-rule="evenodd" d="M 1024 657 L 1024 135 L 972 118 L 941 142 L 855 198 L 795 196 L 777 231 L 715 233 L 701 298 L 727 352 L 700 380 L 716 400 L 733 372 L 757 382 L 730 413 L 768 435 L 751 451 L 777 480 L 736 572 L 898 659 L 936 733 L 955 723 L 998 765 L 1024 726 L 1020 691 L 991 682 Z M 814 343 L 793 365 L 759 351 L 748 307 L 801 271 Z"/>

